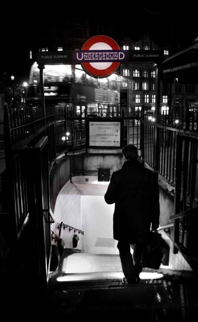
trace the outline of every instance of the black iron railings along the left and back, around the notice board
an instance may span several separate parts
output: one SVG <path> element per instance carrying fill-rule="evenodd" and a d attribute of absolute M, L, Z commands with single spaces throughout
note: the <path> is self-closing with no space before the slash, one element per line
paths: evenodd
<path fill-rule="evenodd" d="M 79 103 L 78 103 L 79 105 Z M 81 104 L 82 105 L 82 104 Z M 86 106 L 86 104 L 84 104 Z M 125 121 L 129 141 L 140 147 L 140 111 L 126 113 L 79 113 L 68 107 L 4 108 L 4 136 L 6 147 L 34 147 L 42 138 L 49 139 L 49 163 L 68 149 L 85 148 L 86 120 L 115 118 Z M 129 121 L 129 122 L 128 122 Z M 128 123 L 127 123 L 128 122 Z M 66 133 L 69 133 L 68 136 Z"/>

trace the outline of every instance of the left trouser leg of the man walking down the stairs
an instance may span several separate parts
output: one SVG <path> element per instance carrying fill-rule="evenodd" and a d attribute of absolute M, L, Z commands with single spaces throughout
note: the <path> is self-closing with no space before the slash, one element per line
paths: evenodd
<path fill-rule="evenodd" d="M 129 284 L 133 284 L 137 282 L 136 274 L 133 265 L 133 258 L 131 255 L 131 248 L 129 242 L 119 241 L 117 248 L 119 249 L 120 253 L 120 260 L 122 264 L 122 271 L 124 276 L 127 279 Z"/>

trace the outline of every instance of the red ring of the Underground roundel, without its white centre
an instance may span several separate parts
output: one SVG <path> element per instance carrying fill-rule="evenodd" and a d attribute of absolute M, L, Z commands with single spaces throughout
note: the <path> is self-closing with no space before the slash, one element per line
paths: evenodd
<path fill-rule="evenodd" d="M 112 38 L 107 37 L 107 36 L 103 36 L 103 35 L 101 35 L 101 36 L 99 35 L 99 36 L 94 36 L 94 37 L 91 37 L 90 39 L 88 39 L 86 41 L 86 43 L 84 43 L 82 50 L 89 50 L 89 48 L 93 44 L 101 43 L 101 42 L 107 43 L 108 45 L 110 45 L 112 47 L 112 49 L 115 49 L 115 50 L 120 49 L 118 44 Z M 89 62 L 83 62 L 82 65 L 85 68 L 85 70 L 88 73 L 90 73 L 91 75 L 98 76 L 98 77 L 105 77 L 105 76 L 109 76 L 109 75 L 113 74 L 113 72 L 120 65 L 120 62 L 113 62 L 110 67 L 103 69 L 103 70 L 99 70 L 99 69 L 92 67 Z"/>

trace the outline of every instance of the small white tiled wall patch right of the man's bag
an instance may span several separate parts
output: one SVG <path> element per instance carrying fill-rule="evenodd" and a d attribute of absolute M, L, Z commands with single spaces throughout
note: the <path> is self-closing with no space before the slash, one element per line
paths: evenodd
<path fill-rule="evenodd" d="M 168 269 L 168 270 L 185 270 L 185 271 L 192 271 L 192 268 L 187 263 L 185 258 L 182 256 L 180 252 L 177 254 L 173 253 L 173 242 L 170 240 L 166 232 L 159 231 L 162 237 L 166 240 L 167 244 L 170 247 L 169 253 L 169 264 L 168 266 L 160 265 L 160 268 Z"/>

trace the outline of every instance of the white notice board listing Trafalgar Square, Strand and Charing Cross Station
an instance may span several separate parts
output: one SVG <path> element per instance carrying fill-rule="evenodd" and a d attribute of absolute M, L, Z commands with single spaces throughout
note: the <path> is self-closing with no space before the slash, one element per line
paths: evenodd
<path fill-rule="evenodd" d="M 120 122 L 89 122 L 89 147 L 120 147 Z"/>

